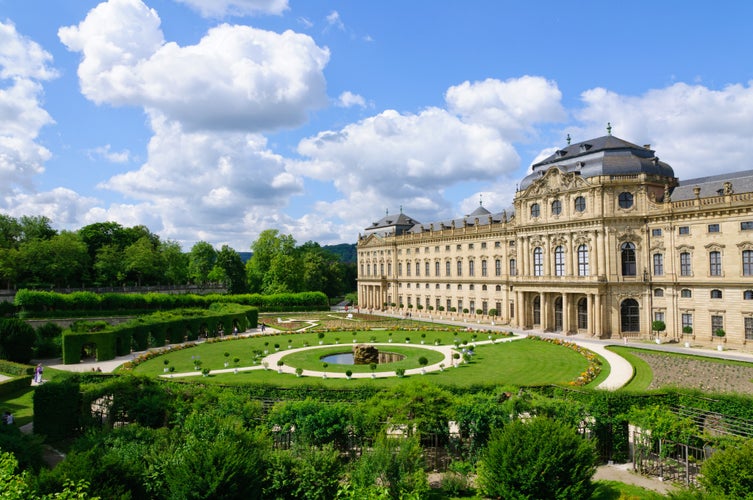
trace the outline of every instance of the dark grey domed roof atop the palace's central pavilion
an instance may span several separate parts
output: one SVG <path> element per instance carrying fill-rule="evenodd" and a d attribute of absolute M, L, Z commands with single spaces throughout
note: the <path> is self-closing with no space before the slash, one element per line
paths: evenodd
<path fill-rule="evenodd" d="M 577 172 L 583 178 L 600 175 L 635 175 L 647 173 L 674 177 L 668 164 L 659 161 L 649 146 L 638 146 L 613 135 L 605 135 L 557 150 L 553 155 L 533 165 L 533 171 L 520 183 L 526 189 L 542 177 L 550 167 L 564 172 Z"/>

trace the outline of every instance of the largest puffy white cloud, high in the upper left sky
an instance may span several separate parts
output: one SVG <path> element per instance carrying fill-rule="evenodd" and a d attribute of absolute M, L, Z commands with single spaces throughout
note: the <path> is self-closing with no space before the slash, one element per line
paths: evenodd
<path fill-rule="evenodd" d="M 61 28 L 60 40 L 83 53 L 84 95 L 159 112 L 186 130 L 294 127 L 326 104 L 329 51 L 307 35 L 223 24 L 181 47 L 159 25 L 140 0 L 110 0 Z"/>

